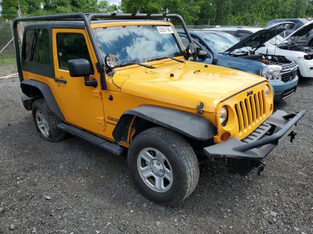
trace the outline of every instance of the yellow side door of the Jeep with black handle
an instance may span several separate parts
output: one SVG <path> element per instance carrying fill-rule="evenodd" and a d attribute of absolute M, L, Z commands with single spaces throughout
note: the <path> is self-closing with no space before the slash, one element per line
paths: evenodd
<path fill-rule="evenodd" d="M 55 82 L 53 90 L 65 121 L 89 130 L 102 132 L 106 129 L 99 75 L 92 57 L 89 40 L 83 29 L 53 29 L 53 58 Z M 85 86 L 83 77 L 70 77 L 69 59 L 87 59 L 91 64 L 98 86 Z"/>

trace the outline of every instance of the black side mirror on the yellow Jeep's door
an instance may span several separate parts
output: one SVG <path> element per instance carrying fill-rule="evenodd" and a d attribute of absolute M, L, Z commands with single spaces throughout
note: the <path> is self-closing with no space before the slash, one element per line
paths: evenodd
<path fill-rule="evenodd" d="M 89 76 L 92 74 L 92 71 L 90 63 L 87 59 L 68 60 L 68 70 L 71 77 L 84 77 L 86 86 L 98 86 L 96 79 L 89 80 Z"/>

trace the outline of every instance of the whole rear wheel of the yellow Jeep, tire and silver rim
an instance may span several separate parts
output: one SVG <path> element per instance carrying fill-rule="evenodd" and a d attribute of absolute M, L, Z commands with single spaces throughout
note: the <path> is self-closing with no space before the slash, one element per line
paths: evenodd
<path fill-rule="evenodd" d="M 33 102 L 32 115 L 40 137 L 54 142 L 66 138 L 66 133 L 57 129 L 57 124 L 61 123 L 62 120 L 50 111 L 44 98 Z"/>

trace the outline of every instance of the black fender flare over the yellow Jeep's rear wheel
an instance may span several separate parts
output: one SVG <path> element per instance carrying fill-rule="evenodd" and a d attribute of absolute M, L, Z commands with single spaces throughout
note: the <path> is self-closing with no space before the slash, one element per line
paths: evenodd
<path fill-rule="evenodd" d="M 33 87 L 40 90 L 40 92 L 45 98 L 45 101 L 48 104 L 50 111 L 54 113 L 57 117 L 59 117 L 61 120 L 64 120 L 64 116 L 59 108 L 59 105 L 57 101 L 55 100 L 50 87 L 47 84 L 37 81 L 37 80 L 32 80 L 32 79 L 22 80 L 21 88 L 22 88 L 23 94 L 25 94 L 26 96 L 30 98 L 35 99 L 37 97 L 34 97 L 33 95 L 33 90 L 32 90 Z"/>

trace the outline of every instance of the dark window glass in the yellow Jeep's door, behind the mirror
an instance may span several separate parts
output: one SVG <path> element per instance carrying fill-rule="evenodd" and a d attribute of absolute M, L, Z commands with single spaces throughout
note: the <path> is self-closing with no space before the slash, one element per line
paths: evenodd
<path fill-rule="evenodd" d="M 91 60 L 88 47 L 83 34 L 80 33 L 59 33 L 57 34 L 59 67 L 68 69 L 68 60 L 87 59 Z"/>

